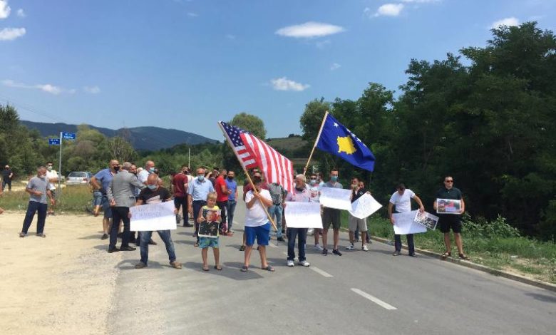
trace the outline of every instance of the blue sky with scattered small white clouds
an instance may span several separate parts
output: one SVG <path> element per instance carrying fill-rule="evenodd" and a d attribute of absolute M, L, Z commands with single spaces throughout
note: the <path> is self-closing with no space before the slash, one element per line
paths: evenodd
<path fill-rule="evenodd" d="M 24 120 L 218 140 L 217 120 L 247 112 L 284 137 L 309 100 L 399 91 L 411 58 L 533 20 L 554 31 L 556 1 L 0 0 L 0 103 Z"/>

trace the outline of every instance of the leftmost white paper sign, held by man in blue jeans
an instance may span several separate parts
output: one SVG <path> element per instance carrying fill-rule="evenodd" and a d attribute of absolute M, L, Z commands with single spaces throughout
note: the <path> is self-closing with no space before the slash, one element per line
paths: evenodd
<path fill-rule="evenodd" d="M 174 202 L 130 207 L 130 230 L 151 232 L 155 230 L 175 230 Z"/>

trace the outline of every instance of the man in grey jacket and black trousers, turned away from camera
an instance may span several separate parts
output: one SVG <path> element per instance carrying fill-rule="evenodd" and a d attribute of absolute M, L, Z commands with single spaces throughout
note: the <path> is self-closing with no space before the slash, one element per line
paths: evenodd
<path fill-rule="evenodd" d="M 143 189 L 145 185 L 137 180 L 137 177 L 130 173 L 131 163 L 123 163 L 122 170 L 112 178 L 112 182 L 106 190 L 110 206 L 112 207 L 112 227 L 110 228 L 110 245 L 108 252 L 133 251 L 134 247 L 130 247 L 130 230 L 129 230 L 129 207 L 135 205 L 134 187 Z M 118 227 L 120 221 L 123 221 L 123 237 L 120 249 L 116 248 L 118 239 Z"/>

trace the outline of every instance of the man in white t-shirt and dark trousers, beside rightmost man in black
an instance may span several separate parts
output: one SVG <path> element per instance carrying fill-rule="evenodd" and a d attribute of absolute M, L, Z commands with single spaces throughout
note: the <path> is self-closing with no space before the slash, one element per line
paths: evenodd
<path fill-rule="evenodd" d="M 421 212 L 425 211 L 421 199 L 412 190 L 406 189 L 406 185 L 399 184 L 398 187 L 396 187 L 396 192 L 390 197 L 390 202 L 388 203 L 388 217 L 390 217 L 392 225 L 396 223 L 393 220 L 392 207 L 396 206 L 396 212 L 398 213 L 411 212 L 411 199 L 417 202 Z M 407 234 L 407 246 L 409 256 L 417 257 L 415 255 L 415 244 L 413 244 L 413 234 Z M 393 256 L 401 254 L 401 235 L 399 234 L 394 235 L 394 247 L 396 250 L 393 252 Z"/>

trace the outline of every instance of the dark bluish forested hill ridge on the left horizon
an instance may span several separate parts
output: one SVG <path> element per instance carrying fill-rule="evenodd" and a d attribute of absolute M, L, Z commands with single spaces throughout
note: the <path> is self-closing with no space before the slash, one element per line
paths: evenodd
<path fill-rule="evenodd" d="M 58 138 L 60 132 L 76 133 L 77 125 L 68 125 L 66 123 L 40 123 L 32 121 L 20 121 L 29 129 L 36 129 L 42 136 L 56 135 Z M 188 145 L 195 145 L 200 143 L 217 143 L 217 140 L 212 138 L 205 138 L 205 136 L 188 133 L 182 130 L 165 129 L 158 127 L 135 127 L 135 128 L 120 128 L 118 130 L 95 127 L 89 125 L 91 129 L 96 129 L 107 137 L 114 137 L 116 135 L 125 135 L 125 138 L 130 140 L 135 150 L 160 150 L 165 148 L 172 148 L 174 145 L 186 143 Z"/>

